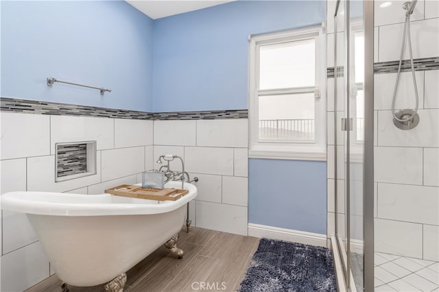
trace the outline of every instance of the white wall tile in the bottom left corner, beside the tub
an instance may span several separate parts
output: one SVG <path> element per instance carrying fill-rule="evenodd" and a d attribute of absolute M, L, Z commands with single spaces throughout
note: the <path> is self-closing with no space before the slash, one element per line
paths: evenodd
<path fill-rule="evenodd" d="M 1 256 L 1 291 L 24 291 L 49 277 L 49 260 L 39 242 Z"/>

